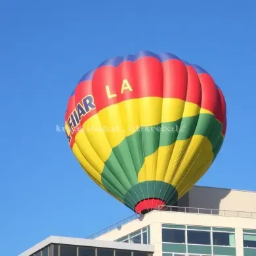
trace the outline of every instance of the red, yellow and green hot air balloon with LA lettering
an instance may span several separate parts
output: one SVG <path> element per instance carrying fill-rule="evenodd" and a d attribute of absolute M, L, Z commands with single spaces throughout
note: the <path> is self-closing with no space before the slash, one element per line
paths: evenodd
<path fill-rule="evenodd" d="M 209 169 L 226 133 L 226 103 L 200 66 L 141 51 L 83 75 L 65 129 L 89 177 L 143 215 L 174 205 Z"/>

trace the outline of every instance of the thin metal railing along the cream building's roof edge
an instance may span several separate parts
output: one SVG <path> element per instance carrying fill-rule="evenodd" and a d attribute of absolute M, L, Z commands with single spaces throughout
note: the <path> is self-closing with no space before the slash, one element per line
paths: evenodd
<path fill-rule="evenodd" d="M 250 218 L 256 219 L 256 213 L 251 213 L 247 211 L 230 211 L 230 210 L 220 210 L 220 209 L 206 209 L 206 208 L 195 208 L 195 207 L 181 207 L 181 206 L 158 206 L 154 211 L 170 211 L 175 213 L 194 213 L 194 214 L 203 214 L 203 215 L 217 215 L 217 216 L 225 216 L 225 217 L 240 217 L 240 218 Z M 148 213 L 147 213 L 148 214 Z M 121 228 L 124 224 L 127 224 L 135 219 L 139 219 L 142 215 L 134 214 L 130 217 L 123 219 L 123 221 L 119 221 L 116 224 L 108 226 L 108 228 L 104 228 L 100 230 L 96 234 L 87 237 L 87 239 L 95 239 L 98 236 L 102 236 L 116 228 Z"/>

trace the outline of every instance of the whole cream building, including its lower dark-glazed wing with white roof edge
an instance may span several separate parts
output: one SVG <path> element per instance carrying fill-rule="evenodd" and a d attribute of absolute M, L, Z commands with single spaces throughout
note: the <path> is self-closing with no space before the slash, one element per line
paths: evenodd
<path fill-rule="evenodd" d="M 133 215 L 88 239 L 50 237 L 19 256 L 129 255 L 256 256 L 256 192 L 194 186 L 177 206 Z"/>

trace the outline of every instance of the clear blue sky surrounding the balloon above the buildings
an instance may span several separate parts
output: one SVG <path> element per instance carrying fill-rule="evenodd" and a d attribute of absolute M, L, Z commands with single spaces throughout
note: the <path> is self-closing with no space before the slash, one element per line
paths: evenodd
<path fill-rule="evenodd" d="M 111 56 L 170 52 L 210 72 L 228 129 L 198 184 L 256 190 L 255 10 L 253 0 L 1 0 L 0 254 L 50 235 L 83 238 L 132 214 L 56 132 L 77 81 Z"/>

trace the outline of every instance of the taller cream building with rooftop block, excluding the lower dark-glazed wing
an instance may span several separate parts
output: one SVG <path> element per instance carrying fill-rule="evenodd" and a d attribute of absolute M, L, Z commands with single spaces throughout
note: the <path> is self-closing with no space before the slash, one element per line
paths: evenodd
<path fill-rule="evenodd" d="M 91 239 L 147 241 L 154 256 L 256 256 L 256 193 L 194 186 L 177 206 L 116 226 Z"/>

